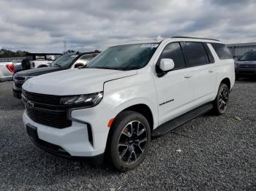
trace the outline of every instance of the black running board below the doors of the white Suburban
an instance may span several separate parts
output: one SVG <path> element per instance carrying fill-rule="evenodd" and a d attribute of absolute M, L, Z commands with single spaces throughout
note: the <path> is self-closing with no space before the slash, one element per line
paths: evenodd
<path fill-rule="evenodd" d="M 196 109 L 187 112 L 186 114 L 182 114 L 181 116 L 176 117 L 173 120 L 167 121 L 164 124 L 159 125 L 159 127 L 153 130 L 152 136 L 165 135 L 166 133 L 169 133 L 170 130 L 173 130 L 181 125 L 184 125 L 184 123 L 189 122 L 190 120 L 195 119 L 195 117 L 199 117 L 200 115 L 209 112 L 213 108 L 214 106 L 212 104 L 204 104 L 203 106 L 199 106 Z"/>

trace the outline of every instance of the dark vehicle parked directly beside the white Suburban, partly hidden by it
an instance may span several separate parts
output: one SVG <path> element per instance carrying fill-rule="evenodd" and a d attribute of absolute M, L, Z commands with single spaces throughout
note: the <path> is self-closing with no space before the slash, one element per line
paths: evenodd
<path fill-rule="evenodd" d="M 31 69 L 26 71 L 19 71 L 13 76 L 14 83 L 12 87 L 13 95 L 15 98 L 21 98 L 21 91 L 23 83 L 31 78 L 42 74 L 48 74 L 54 71 L 61 71 L 66 69 L 75 69 L 81 66 L 85 66 L 92 58 L 98 55 L 99 52 L 83 52 L 72 53 L 62 55 L 53 63 L 50 63 L 49 67 L 42 67 L 39 69 Z"/>

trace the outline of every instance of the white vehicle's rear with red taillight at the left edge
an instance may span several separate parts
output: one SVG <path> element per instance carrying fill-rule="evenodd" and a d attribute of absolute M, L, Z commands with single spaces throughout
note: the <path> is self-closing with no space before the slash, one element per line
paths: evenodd
<path fill-rule="evenodd" d="M 15 72 L 15 66 L 12 62 L 0 62 L 0 82 L 12 80 Z"/>

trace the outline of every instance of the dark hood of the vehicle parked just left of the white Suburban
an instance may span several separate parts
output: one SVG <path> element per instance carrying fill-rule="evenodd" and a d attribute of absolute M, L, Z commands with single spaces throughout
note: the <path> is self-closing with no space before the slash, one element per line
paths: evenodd
<path fill-rule="evenodd" d="M 15 77 L 36 77 L 42 74 L 48 74 L 50 72 L 61 71 L 61 70 L 64 70 L 64 69 L 61 69 L 58 67 L 43 67 L 39 69 L 23 70 L 23 71 L 18 71 L 15 74 Z"/>

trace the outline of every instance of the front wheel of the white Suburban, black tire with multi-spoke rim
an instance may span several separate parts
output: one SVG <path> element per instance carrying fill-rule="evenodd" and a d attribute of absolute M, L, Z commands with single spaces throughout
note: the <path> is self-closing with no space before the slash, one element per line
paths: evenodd
<path fill-rule="evenodd" d="M 145 159 L 150 141 L 151 129 L 146 117 L 138 112 L 121 112 L 110 128 L 108 160 L 119 171 L 132 170 Z"/>

